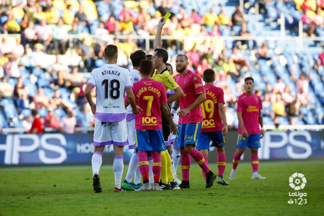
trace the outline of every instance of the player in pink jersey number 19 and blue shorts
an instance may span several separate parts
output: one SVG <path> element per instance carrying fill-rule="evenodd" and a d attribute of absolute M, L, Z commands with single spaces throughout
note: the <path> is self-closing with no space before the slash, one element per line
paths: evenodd
<path fill-rule="evenodd" d="M 228 185 L 223 174 L 226 165 L 225 158 L 225 136 L 227 134 L 227 122 L 224 108 L 224 91 L 221 88 L 214 86 L 215 72 L 213 69 L 206 69 L 203 72 L 203 80 L 205 81 L 205 91 L 207 100 L 201 104 L 203 113 L 203 125 L 198 136 L 198 144 L 196 149 L 199 150 L 208 164 L 209 143 L 212 140 L 212 145 L 217 150 L 217 168 L 218 178 L 217 183 Z M 206 179 L 206 174 L 203 176 Z"/>

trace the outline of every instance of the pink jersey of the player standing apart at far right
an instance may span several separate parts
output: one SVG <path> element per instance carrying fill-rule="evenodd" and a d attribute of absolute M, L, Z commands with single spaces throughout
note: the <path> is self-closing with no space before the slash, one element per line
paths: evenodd
<path fill-rule="evenodd" d="M 252 94 L 241 94 L 235 103 L 235 111 L 242 112 L 243 125 L 248 134 L 260 134 L 259 111 L 262 110 L 261 98 Z M 238 133 L 242 134 L 241 127 L 238 125 Z"/>

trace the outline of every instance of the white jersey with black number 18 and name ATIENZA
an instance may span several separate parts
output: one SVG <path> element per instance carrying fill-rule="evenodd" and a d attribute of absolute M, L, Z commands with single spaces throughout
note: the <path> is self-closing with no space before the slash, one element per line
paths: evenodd
<path fill-rule="evenodd" d="M 126 118 L 125 89 L 133 88 L 126 68 L 106 64 L 93 69 L 87 84 L 96 86 L 96 118 L 101 122 L 121 122 Z"/>

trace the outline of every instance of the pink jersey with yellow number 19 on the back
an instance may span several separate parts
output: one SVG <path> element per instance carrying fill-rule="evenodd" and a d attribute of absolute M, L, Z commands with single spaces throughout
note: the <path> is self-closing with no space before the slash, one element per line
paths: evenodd
<path fill-rule="evenodd" d="M 224 91 L 214 85 L 205 85 L 206 101 L 201 104 L 203 112 L 203 125 L 200 132 L 220 131 L 223 122 L 218 111 L 218 103 L 224 102 Z"/>

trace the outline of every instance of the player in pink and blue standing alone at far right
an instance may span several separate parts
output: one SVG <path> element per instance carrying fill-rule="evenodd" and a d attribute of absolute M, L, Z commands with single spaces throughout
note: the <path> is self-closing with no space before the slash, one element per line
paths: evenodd
<path fill-rule="evenodd" d="M 233 168 L 229 179 L 235 178 L 237 165 L 247 147 L 251 150 L 252 178 L 265 179 L 266 177 L 258 173 L 258 148 L 261 147 L 260 139 L 264 136 L 263 116 L 261 114 L 262 101 L 258 95 L 253 93 L 254 80 L 252 77 L 245 78 L 244 84 L 245 92 L 238 96 L 235 103 L 235 111 L 238 118 L 238 138 L 237 149 L 233 156 Z"/>

